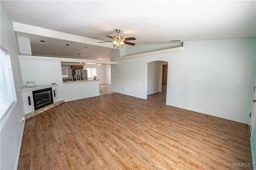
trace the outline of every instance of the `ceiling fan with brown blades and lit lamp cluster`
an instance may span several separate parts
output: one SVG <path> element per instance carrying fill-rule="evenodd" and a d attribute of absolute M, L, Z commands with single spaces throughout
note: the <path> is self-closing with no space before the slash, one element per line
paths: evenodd
<path fill-rule="evenodd" d="M 122 48 L 124 46 L 124 44 L 135 45 L 134 43 L 130 43 L 130 42 L 127 42 L 127 41 L 136 40 L 136 38 L 134 38 L 134 37 L 123 38 L 122 35 L 119 35 L 120 29 L 116 29 L 116 32 L 117 32 L 117 35 L 115 35 L 114 37 L 106 35 L 107 37 L 114 39 L 114 41 L 104 41 L 104 42 L 99 42 L 99 43 L 112 42 L 114 47 L 116 47 L 118 49 L 119 49 L 119 47 Z"/>

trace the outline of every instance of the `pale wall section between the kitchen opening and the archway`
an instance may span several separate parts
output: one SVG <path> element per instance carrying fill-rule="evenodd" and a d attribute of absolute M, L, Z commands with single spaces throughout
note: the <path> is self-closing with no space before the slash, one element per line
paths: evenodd
<path fill-rule="evenodd" d="M 111 91 L 146 99 L 146 63 L 142 58 L 120 60 L 120 50 L 110 50 L 110 61 L 117 61 L 111 65 Z"/>

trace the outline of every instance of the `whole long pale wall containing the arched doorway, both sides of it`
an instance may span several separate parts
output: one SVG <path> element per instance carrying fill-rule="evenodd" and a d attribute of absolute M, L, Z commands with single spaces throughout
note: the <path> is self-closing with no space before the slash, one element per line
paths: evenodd
<path fill-rule="evenodd" d="M 112 50 L 111 61 L 118 62 L 111 66 L 112 91 L 146 99 L 146 63 L 166 61 L 167 105 L 248 123 L 255 46 L 255 38 L 193 41 L 182 52 L 126 60 L 119 57 L 125 52 Z"/>

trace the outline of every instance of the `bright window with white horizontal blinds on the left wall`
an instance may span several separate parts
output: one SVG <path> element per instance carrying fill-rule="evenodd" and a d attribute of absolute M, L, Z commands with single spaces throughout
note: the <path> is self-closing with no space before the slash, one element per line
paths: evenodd
<path fill-rule="evenodd" d="M 17 101 L 10 56 L 0 49 L 0 119 Z"/>

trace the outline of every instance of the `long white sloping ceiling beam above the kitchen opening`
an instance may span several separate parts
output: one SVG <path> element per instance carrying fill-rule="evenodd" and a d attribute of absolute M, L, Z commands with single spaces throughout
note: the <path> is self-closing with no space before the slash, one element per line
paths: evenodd
<path fill-rule="evenodd" d="M 60 39 L 60 40 L 66 40 L 66 41 L 74 41 L 77 43 L 84 43 L 84 44 L 90 44 L 90 45 L 96 45 L 101 47 L 108 47 L 113 49 L 113 45 L 111 43 L 98 43 L 101 42 L 96 39 L 86 38 L 78 35 L 72 35 L 67 33 L 62 33 L 58 31 L 53 31 L 50 29 L 45 29 L 41 27 L 35 27 L 31 25 L 26 25 L 23 23 L 17 23 L 13 22 L 14 31 L 18 33 L 26 33 L 31 35 L 38 35 L 41 37 L 48 37 L 53 39 Z"/>

